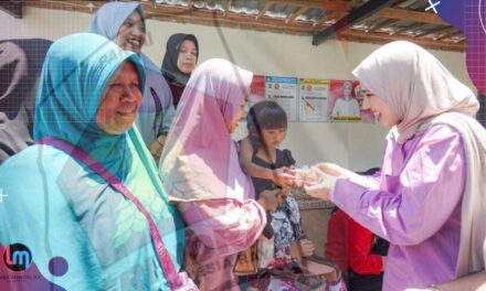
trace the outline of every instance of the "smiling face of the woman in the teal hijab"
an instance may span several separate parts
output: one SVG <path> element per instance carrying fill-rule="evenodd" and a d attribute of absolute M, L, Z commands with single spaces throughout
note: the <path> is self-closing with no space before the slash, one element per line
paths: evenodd
<path fill-rule="evenodd" d="M 106 85 L 96 123 L 105 132 L 120 134 L 134 123 L 140 104 L 137 69 L 131 62 L 125 62 Z"/>

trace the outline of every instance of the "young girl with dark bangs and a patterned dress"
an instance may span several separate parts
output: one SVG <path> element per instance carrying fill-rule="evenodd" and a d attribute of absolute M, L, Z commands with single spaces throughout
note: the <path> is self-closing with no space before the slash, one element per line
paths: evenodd
<path fill-rule="evenodd" d="M 299 246 L 300 255 L 304 257 L 311 256 L 315 247 L 310 240 L 305 239 L 298 204 L 292 195 L 288 195 L 290 187 L 281 187 L 273 180 L 267 179 L 275 172 L 282 173 L 290 182 L 293 179 L 288 170 L 295 165 L 295 160 L 290 151 L 278 149 L 287 131 L 287 115 L 275 101 L 264 100 L 250 109 L 246 120 L 249 136 L 241 141 L 240 151 L 242 168 L 252 176 L 256 196 L 263 191 L 274 191 L 279 200 L 277 209 L 271 214 L 272 219 L 268 219 L 273 231 L 268 231 L 267 226 L 267 231 L 264 231 L 266 238 L 261 237 L 258 244 L 261 248 L 262 240 L 273 240 L 272 257 L 274 258 L 266 257 L 267 261 L 264 265 L 267 266 L 262 266 L 261 258 L 258 258 L 258 267 L 264 269 L 260 270 L 258 280 L 250 278 L 252 281 L 250 284 L 258 290 L 293 288 L 302 290 L 310 285 L 313 288 L 325 287 L 325 280 L 303 273 L 297 261 L 290 259 L 290 245 Z"/>

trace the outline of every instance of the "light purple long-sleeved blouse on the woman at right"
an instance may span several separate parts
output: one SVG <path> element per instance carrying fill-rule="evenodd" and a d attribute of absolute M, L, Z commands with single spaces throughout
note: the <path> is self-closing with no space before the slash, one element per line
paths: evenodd
<path fill-rule="evenodd" d="M 383 290 L 454 279 L 465 180 L 459 133 L 436 125 L 403 144 L 389 134 L 379 175 L 336 181 L 332 202 L 390 241 Z"/>

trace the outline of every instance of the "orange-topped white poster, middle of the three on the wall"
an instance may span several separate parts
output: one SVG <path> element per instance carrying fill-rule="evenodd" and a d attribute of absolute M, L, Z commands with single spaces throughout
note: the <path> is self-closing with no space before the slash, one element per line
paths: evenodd
<path fill-rule="evenodd" d="M 329 99 L 328 79 L 299 79 L 298 120 L 302 122 L 327 122 Z"/>

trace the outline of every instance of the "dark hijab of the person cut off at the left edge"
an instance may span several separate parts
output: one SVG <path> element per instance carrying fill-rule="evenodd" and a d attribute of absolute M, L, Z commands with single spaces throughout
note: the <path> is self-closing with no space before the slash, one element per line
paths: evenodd
<path fill-rule="evenodd" d="M 4 55 L 0 69 L 0 164 L 32 144 L 33 115 L 39 76 L 52 42 L 42 39 L 2 40 L 0 46 L 15 46 Z M 25 64 L 22 67 L 20 64 Z M 14 76 L 20 74 L 18 82 Z"/>

